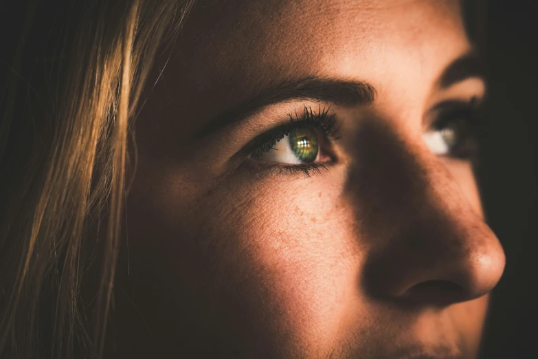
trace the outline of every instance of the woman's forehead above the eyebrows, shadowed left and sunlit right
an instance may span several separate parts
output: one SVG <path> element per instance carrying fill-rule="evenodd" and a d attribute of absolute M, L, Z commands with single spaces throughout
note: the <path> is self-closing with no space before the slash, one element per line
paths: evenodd
<path fill-rule="evenodd" d="M 427 91 L 468 50 L 456 0 L 201 0 L 167 77 L 188 84 L 189 102 L 211 98 L 210 111 L 314 75 Z"/>

